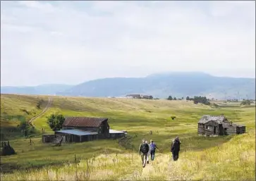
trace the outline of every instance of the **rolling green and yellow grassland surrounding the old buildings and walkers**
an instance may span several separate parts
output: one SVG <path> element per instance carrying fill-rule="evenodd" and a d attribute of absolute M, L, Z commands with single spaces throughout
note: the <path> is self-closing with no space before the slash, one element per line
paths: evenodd
<path fill-rule="evenodd" d="M 44 106 L 47 104 L 47 96 L 2 94 L 1 131 L 6 135 L 10 127 L 14 129 L 18 124 L 19 119 L 8 116 L 29 120 L 42 111 L 35 106 L 39 99 L 46 101 Z M 34 121 L 38 131 L 43 127 L 51 132 L 47 116 L 54 112 L 109 118 L 111 129 L 127 130 L 133 139 L 130 146 L 121 146 L 117 140 L 97 140 L 54 147 L 42 144 L 37 133 L 30 146 L 29 139 L 18 137 L 16 132 L 7 138 L 17 154 L 1 156 L 2 180 L 255 180 L 255 106 L 220 104 L 212 108 L 192 101 L 53 96 L 51 108 Z M 233 123 L 246 125 L 247 133 L 197 136 L 197 122 L 202 115 L 221 113 Z M 176 119 L 171 120 L 171 116 Z M 169 147 L 177 135 L 182 142 L 181 155 L 173 162 L 169 161 Z M 143 169 L 138 157 L 142 138 L 154 139 L 160 149 L 156 160 Z M 74 156 L 79 163 L 73 163 Z"/>

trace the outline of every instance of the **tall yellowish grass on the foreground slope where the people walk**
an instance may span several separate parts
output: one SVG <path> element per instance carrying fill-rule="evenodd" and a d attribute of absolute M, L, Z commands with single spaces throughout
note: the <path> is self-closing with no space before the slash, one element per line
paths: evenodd
<path fill-rule="evenodd" d="M 202 151 L 184 151 L 178 161 L 156 154 L 142 168 L 140 156 L 101 154 L 60 167 L 16 171 L 1 180 L 255 180 L 255 132 Z"/>

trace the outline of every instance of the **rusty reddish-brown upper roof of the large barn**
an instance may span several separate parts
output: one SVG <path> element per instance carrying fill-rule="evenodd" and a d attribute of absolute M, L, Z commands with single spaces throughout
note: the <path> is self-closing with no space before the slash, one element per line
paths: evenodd
<path fill-rule="evenodd" d="M 108 118 L 67 117 L 63 126 L 99 127 L 104 120 L 108 120 Z"/>

